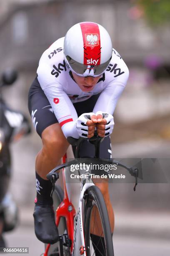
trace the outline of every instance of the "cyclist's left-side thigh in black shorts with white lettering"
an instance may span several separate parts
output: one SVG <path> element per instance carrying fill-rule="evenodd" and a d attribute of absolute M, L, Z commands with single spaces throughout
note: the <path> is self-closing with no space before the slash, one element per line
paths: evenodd
<path fill-rule="evenodd" d="M 34 128 L 40 137 L 45 128 L 54 123 L 58 123 L 50 102 L 41 89 L 37 78 L 35 78 L 29 90 L 28 109 Z"/>

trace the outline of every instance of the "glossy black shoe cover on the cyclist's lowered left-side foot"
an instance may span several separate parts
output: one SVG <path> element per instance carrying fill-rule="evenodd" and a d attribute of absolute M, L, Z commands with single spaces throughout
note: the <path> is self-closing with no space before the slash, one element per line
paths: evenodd
<path fill-rule="evenodd" d="M 55 225 L 54 210 L 51 205 L 37 205 L 34 209 L 35 235 L 42 243 L 56 243 L 59 240 Z"/>

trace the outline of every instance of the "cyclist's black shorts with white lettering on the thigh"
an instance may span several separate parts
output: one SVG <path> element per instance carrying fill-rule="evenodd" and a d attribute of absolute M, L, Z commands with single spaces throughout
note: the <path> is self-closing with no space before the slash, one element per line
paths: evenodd
<path fill-rule="evenodd" d="M 75 110 L 77 115 L 80 116 L 83 113 L 92 112 L 95 103 L 100 94 L 93 95 L 88 100 L 74 103 Z M 35 78 L 33 81 L 29 93 L 28 93 L 28 109 L 32 117 L 32 123 L 35 127 L 35 130 L 41 137 L 42 131 L 47 128 L 49 125 L 58 123 L 55 114 L 52 111 L 50 102 L 48 101 L 45 93 L 43 92 L 38 79 Z M 73 148 L 73 152 L 75 148 Z M 82 152 L 82 153 L 81 153 Z M 94 146 L 88 143 L 85 140 L 82 144 L 80 155 L 81 156 L 93 156 L 94 155 Z M 101 143 L 100 146 L 100 157 L 110 158 L 111 156 L 111 146 L 110 146 L 110 136 L 107 136 Z"/>

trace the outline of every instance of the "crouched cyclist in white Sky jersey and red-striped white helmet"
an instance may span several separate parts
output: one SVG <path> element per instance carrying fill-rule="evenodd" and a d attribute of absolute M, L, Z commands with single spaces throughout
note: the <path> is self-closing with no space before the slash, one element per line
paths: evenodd
<path fill-rule="evenodd" d="M 37 154 L 34 221 L 35 234 L 43 243 L 55 243 L 58 231 L 46 178 L 67 151 L 67 137 L 106 137 L 100 145 L 100 157 L 110 158 L 110 134 L 113 112 L 129 76 L 128 67 L 112 49 L 109 34 L 97 23 L 82 22 L 72 26 L 66 36 L 55 41 L 41 56 L 37 77 L 28 97 L 34 127 L 42 139 Z M 93 145 L 83 142 L 81 151 L 93 156 Z M 87 152 L 87 153 L 85 153 Z M 108 183 L 100 188 L 114 228 L 114 213 Z M 99 234 L 93 236 L 97 243 Z M 99 246 L 99 245 L 98 245 Z M 102 249 L 101 249 L 102 250 Z"/>

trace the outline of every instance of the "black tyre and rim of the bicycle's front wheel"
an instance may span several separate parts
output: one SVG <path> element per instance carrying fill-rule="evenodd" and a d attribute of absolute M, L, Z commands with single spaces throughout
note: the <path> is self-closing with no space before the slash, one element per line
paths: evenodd
<path fill-rule="evenodd" d="M 102 253 L 98 252 L 97 248 L 92 249 L 92 245 L 90 245 L 90 221 L 91 221 L 91 213 L 94 206 L 95 210 L 98 210 L 98 213 L 100 215 L 100 221 L 102 224 L 102 232 L 104 235 L 104 241 L 105 241 L 105 256 L 114 256 L 113 251 L 113 243 L 112 243 L 112 234 L 110 229 L 110 222 L 109 217 L 107 213 L 107 207 L 105 205 L 104 198 L 102 196 L 102 193 L 100 189 L 96 186 L 91 186 L 86 191 L 87 194 L 85 194 L 85 204 L 83 209 L 83 229 L 84 229 L 84 238 L 85 238 L 85 250 L 86 255 L 91 256 L 95 255 L 94 252 L 97 253 L 96 255 L 103 255 Z M 93 220 L 94 221 L 94 220 Z M 98 224 L 98 223 L 95 223 Z M 94 225 L 95 225 L 94 224 Z M 92 244 L 92 242 L 91 242 Z M 94 250 L 94 251 L 92 251 Z"/>

